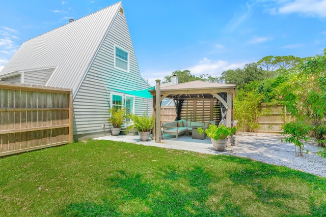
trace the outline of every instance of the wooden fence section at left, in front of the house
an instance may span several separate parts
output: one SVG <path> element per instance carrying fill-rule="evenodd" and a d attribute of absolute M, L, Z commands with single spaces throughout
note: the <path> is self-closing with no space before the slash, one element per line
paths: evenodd
<path fill-rule="evenodd" d="M 73 142 L 72 90 L 0 82 L 0 156 Z"/>

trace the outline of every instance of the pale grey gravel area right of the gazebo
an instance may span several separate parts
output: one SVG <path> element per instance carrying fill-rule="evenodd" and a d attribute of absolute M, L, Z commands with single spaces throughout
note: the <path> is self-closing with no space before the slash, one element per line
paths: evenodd
<path fill-rule="evenodd" d="M 304 147 L 304 156 L 296 157 L 293 144 L 281 142 L 281 135 L 259 133 L 238 133 L 236 146 L 232 146 L 231 154 L 254 159 L 268 164 L 287 166 L 326 177 L 326 159 L 317 156 L 320 150 L 315 144 L 308 143 Z M 306 153 L 309 150 L 309 153 Z"/>

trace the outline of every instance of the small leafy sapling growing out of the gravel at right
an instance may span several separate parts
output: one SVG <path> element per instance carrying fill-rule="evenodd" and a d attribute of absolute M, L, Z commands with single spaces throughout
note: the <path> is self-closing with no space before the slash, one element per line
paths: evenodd
<path fill-rule="evenodd" d="M 308 142 L 308 134 L 312 129 L 310 125 L 303 121 L 291 121 L 282 126 L 282 134 L 287 135 L 282 142 L 289 142 L 295 145 L 295 154 L 303 156 L 304 141 Z"/>

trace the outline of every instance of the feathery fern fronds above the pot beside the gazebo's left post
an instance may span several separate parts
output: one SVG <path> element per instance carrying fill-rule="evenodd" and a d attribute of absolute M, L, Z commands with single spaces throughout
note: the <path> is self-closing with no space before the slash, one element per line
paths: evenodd
<path fill-rule="evenodd" d="M 126 130 L 137 129 L 140 132 L 149 132 L 154 127 L 154 117 L 146 116 L 145 111 L 143 116 L 138 116 L 135 114 L 128 114 L 127 117 L 131 119 L 133 125 L 129 126 Z"/>

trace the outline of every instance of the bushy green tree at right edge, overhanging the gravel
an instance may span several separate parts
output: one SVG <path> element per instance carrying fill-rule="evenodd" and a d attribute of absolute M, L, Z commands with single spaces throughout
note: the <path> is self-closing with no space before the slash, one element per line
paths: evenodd
<path fill-rule="evenodd" d="M 326 49 L 323 55 L 307 58 L 300 73 L 293 74 L 282 89 L 287 110 L 296 121 L 312 127 L 310 136 L 318 146 L 326 144 Z"/>

